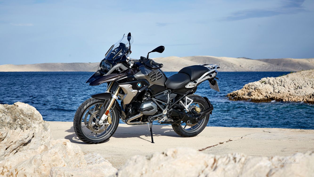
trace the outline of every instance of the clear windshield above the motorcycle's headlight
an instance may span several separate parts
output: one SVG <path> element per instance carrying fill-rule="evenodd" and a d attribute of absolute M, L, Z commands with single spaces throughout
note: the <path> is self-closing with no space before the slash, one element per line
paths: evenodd
<path fill-rule="evenodd" d="M 127 36 L 123 36 L 119 41 L 113 45 L 106 54 L 105 60 L 114 60 L 127 53 L 128 47 L 133 43 L 133 37 L 131 40 L 127 40 Z"/>

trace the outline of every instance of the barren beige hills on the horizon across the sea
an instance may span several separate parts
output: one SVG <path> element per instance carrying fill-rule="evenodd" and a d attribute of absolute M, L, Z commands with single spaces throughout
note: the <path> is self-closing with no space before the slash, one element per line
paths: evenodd
<path fill-rule="evenodd" d="M 179 71 L 195 64 L 218 64 L 220 71 L 300 71 L 314 69 L 314 58 L 309 59 L 259 59 L 231 58 L 214 56 L 165 57 L 153 58 L 155 62 L 164 64 L 163 71 Z M 43 63 L 0 65 L 2 71 L 96 71 L 99 63 Z"/>

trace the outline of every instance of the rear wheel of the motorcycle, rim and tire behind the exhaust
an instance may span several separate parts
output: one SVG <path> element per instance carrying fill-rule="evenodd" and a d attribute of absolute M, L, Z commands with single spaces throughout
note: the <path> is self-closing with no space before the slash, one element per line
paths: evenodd
<path fill-rule="evenodd" d="M 196 109 L 202 112 L 208 108 L 206 100 L 199 95 L 190 95 L 189 98 L 193 99 L 189 109 Z M 209 120 L 209 114 L 203 117 L 197 124 L 187 124 L 181 121 L 180 124 L 172 124 L 173 130 L 182 137 L 193 137 L 201 133 L 206 127 Z"/>

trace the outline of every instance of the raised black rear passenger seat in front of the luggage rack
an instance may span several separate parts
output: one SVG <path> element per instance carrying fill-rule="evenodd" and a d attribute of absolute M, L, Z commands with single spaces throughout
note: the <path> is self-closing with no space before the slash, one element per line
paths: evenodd
<path fill-rule="evenodd" d="M 203 74 L 208 72 L 208 68 L 202 65 L 192 65 L 182 68 L 178 73 L 184 73 L 190 76 L 191 80 L 194 81 L 200 78 Z"/>

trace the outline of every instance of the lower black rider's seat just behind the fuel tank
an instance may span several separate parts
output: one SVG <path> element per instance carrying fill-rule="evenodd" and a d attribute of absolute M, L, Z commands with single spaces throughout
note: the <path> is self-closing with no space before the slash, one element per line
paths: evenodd
<path fill-rule="evenodd" d="M 190 76 L 184 73 L 177 73 L 167 78 L 165 86 L 168 89 L 176 90 L 183 88 L 190 82 Z"/>

